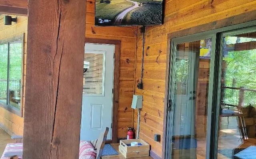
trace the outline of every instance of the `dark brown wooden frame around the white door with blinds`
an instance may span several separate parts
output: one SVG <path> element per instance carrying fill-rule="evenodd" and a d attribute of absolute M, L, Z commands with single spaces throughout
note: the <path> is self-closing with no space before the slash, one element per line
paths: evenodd
<path fill-rule="evenodd" d="M 119 74 L 120 74 L 120 40 L 85 38 L 85 43 L 92 44 L 111 44 L 114 45 L 114 81 L 113 81 L 113 109 L 112 109 L 112 139 L 107 140 L 109 143 L 117 143 L 117 119 L 118 119 L 118 98 L 119 98 Z"/>

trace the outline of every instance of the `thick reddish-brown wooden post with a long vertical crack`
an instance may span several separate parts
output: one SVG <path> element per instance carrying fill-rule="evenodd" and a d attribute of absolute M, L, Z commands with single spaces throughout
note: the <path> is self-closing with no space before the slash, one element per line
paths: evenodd
<path fill-rule="evenodd" d="M 78 159 L 86 0 L 29 0 L 24 159 Z"/>

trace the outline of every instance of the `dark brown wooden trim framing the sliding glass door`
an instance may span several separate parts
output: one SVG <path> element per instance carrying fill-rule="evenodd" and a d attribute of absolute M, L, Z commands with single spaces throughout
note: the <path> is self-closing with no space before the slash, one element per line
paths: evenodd
<path fill-rule="evenodd" d="M 244 27 L 249 27 L 249 26 L 255 26 L 256 25 L 256 10 L 251 11 L 251 12 L 246 12 L 243 14 L 239 14 L 236 16 L 232 16 L 229 18 L 225 18 L 222 20 L 210 22 L 207 24 L 202 24 L 200 26 L 194 26 L 192 28 L 180 30 L 177 32 L 171 32 L 167 34 L 167 54 L 166 54 L 166 81 L 165 81 L 165 97 L 164 97 L 164 123 L 163 123 L 163 142 L 162 142 L 162 159 L 166 158 L 166 136 L 167 136 L 167 114 L 168 114 L 168 91 L 169 91 L 169 80 L 170 77 L 170 71 L 172 71 L 172 66 L 170 66 L 170 62 L 172 62 L 172 39 L 173 38 L 189 38 L 189 37 L 195 37 L 196 34 L 197 36 L 202 36 L 205 34 L 217 34 L 218 32 L 225 32 L 228 30 L 234 30 L 234 29 L 239 29 L 239 28 L 244 28 Z M 217 42 L 218 42 L 218 37 Z M 216 48 L 216 51 L 219 51 L 219 48 Z M 218 54 L 216 54 L 218 56 Z M 216 57 L 218 58 L 218 57 Z M 214 124 L 214 133 L 215 135 L 218 134 L 218 119 L 216 119 L 216 112 L 217 110 L 214 109 L 212 113 L 212 124 Z M 215 136 L 214 135 L 214 136 Z M 210 148 L 216 149 L 218 147 L 216 143 L 216 139 L 214 137 L 211 137 L 210 139 Z M 210 158 L 212 159 L 216 154 L 216 152 L 210 152 Z"/>

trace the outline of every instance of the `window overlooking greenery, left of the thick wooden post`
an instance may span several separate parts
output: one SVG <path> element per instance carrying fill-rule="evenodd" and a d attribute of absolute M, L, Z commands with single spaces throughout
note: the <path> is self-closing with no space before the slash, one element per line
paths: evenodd
<path fill-rule="evenodd" d="M 24 34 L 0 40 L 0 106 L 22 115 Z"/>

